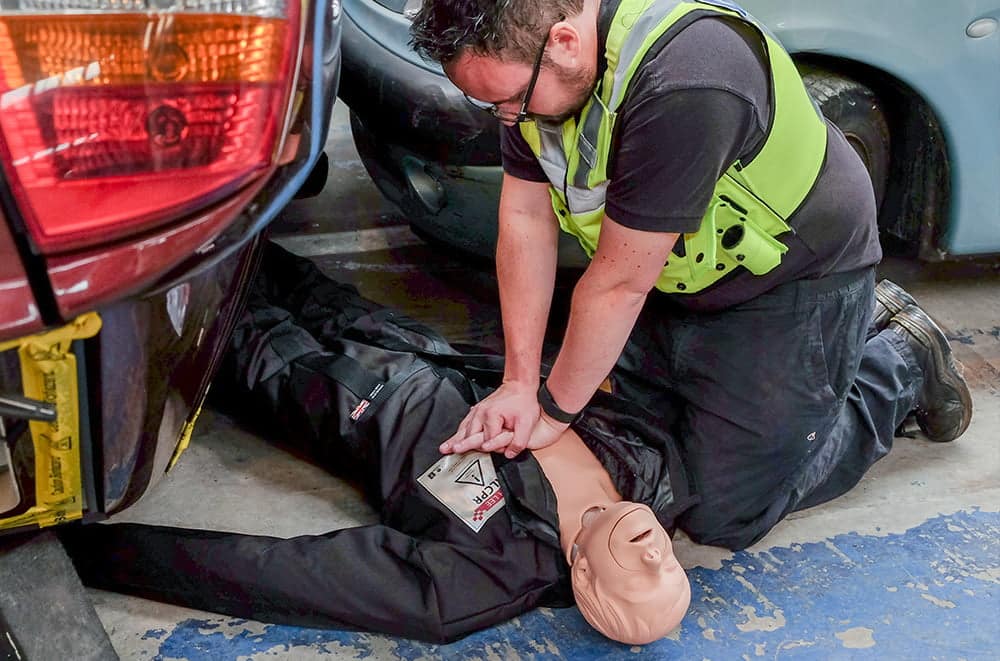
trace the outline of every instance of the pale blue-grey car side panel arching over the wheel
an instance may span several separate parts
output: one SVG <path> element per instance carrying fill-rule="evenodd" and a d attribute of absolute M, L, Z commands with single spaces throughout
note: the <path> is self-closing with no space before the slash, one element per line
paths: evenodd
<path fill-rule="evenodd" d="M 947 219 L 941 219 L 936 248 L 942 256 L 1000 253 L 1000 5 L 986 0 L 744 0 L 742 5 L 793 54 L 864 64 L 925 100 L 943 133 L 950 170 Z M 975 25 L 987 34 L 971 36 Z"/>

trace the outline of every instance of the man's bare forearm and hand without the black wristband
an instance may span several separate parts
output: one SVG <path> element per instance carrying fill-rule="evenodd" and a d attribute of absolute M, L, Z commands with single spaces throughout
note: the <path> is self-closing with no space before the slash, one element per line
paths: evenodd
<path fill-rule="evenodd" d="M 527 443 L 539 416 L 536 393 L 555 286 L 558 237 L 559 225 L 548 184 L 505 174 L 496 253 L 506 359 L 504 381 L 469 411 L 455 434 L 442 444 L 442 452 L 453 451 L 456 443 L 464 444 L 480 431 L 493 438 L 508 429 L 514 432 L 516 445 L 524 447 Z"/>

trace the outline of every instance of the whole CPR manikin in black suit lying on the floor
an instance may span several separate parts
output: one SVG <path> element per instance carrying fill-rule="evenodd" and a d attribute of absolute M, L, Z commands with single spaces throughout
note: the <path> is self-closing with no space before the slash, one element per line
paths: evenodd
<path fill-rule="evenodd" d="M 684 573 L 650 511 L 623 502 L 649 505 L 669 528 L 697 498 L 662 418 L 601 393 L 537 459 L 442 455 L 441 442 L 486 387 L 381 346 L 419 340 L 400 317 L 274 244 L 248 298 L 216 392 L 234 417 L 358 484 L 377 520 L 292 537 L 63 527 L 86 585 L 242 619 L 433 643 L 576 600 L 597 630 L 626 643 L 677 626 L 690 599 Z M 359 373 L 408 376 L 362 409 Z"/>

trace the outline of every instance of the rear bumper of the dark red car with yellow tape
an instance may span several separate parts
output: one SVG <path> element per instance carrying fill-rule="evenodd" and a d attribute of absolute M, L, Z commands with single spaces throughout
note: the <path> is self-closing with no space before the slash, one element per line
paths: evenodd
<path fill-rule="evenodd" d="M 168 289 L 0 343 L 0 392 L 57 411 L 47 422 L 4 417 L 0 534 L 103 518 L 156 484 L 190 437 L 258 245 Z"/>

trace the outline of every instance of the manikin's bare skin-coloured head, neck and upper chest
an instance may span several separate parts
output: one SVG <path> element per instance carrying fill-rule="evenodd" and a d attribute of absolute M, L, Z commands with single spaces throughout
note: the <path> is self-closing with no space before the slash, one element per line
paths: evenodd
<path fill-rule="evenodd" d="M 573 594 L 587 622 L 630 645 L 676 629 L 691 601 L 691 586 L 652 510 L 623 501 L 572 430 L 534 455 L 556 494 Z"/>

